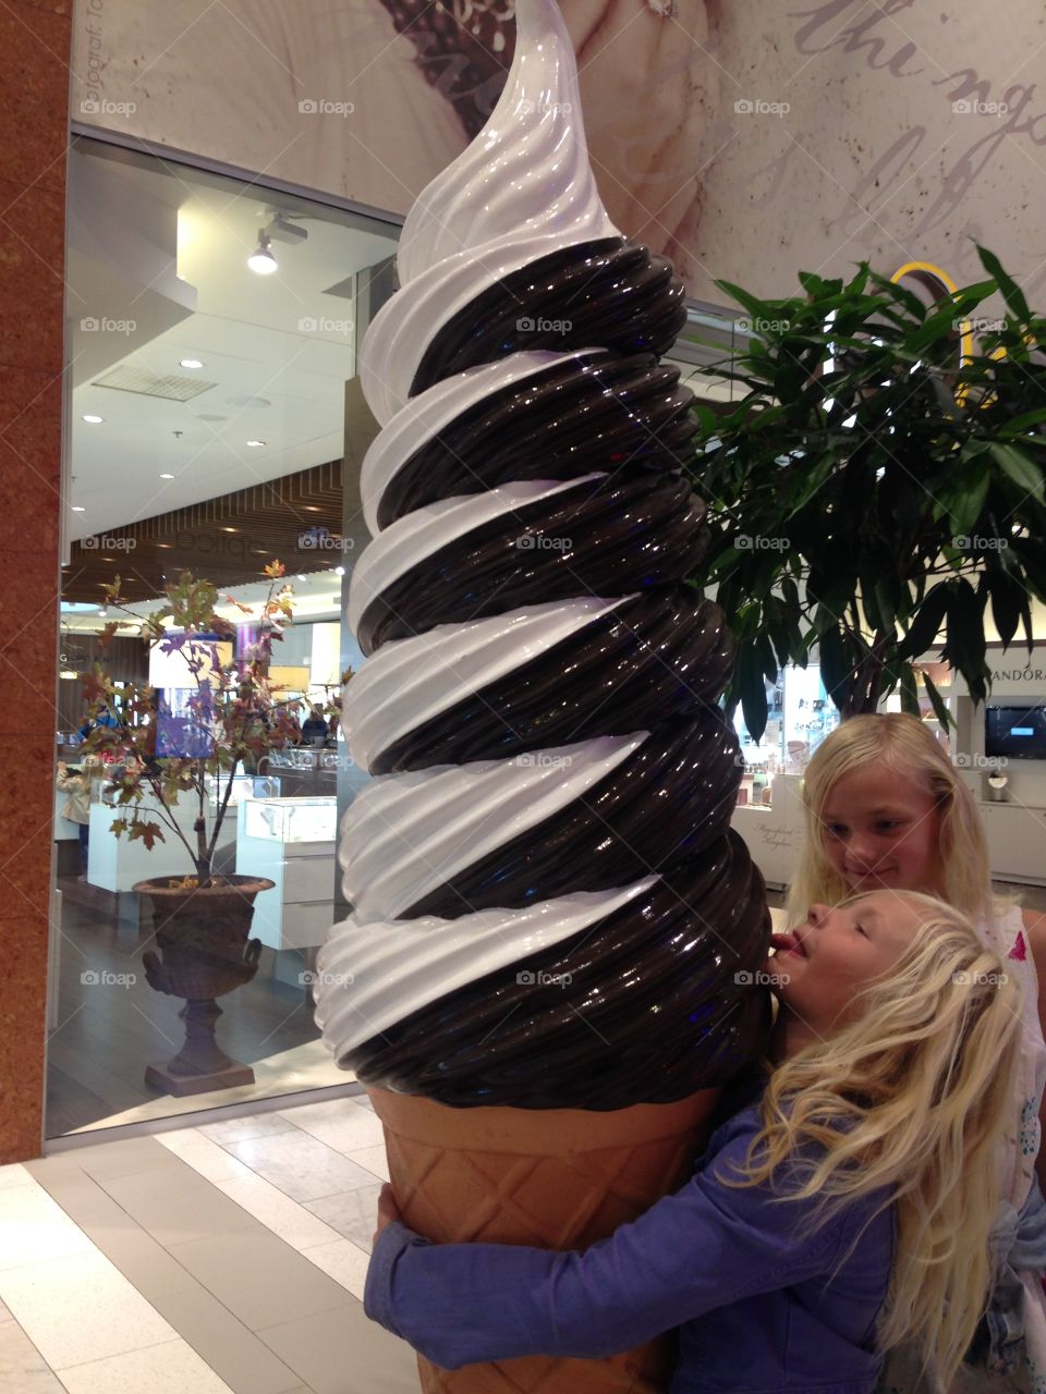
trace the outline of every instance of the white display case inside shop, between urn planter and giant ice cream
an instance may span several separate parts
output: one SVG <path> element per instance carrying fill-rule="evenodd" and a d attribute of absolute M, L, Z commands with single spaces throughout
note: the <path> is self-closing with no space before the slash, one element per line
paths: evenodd
<path fill-rule="evenodd" d="M 236 870 L 275 885 L 254 902 L 251 935 L 272 949 L 324 944 L 335 910 L 336 799 L 244 799 Z"/>

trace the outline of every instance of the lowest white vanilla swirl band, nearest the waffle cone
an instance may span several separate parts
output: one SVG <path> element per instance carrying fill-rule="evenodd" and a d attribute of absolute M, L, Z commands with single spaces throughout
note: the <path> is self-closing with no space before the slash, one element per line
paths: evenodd
<path fill-rule="evenodd" d="M 342 920 L 317 958 L 317 1022 L 340 1062 L 428 1002 L 561 944 L 643 895 L 660 878 L 576 891 L 522 910 L 477 910 L 358 924 Z"/>

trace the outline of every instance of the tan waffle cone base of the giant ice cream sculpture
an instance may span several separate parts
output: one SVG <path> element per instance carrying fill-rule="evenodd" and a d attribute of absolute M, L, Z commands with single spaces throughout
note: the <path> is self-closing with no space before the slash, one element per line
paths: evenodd
<path fill-rule="evenodd" d="M 586 1249 L 689 1177 L 718 1100 L 612 1112 L 448 1108 L 368 1089 L 404 1224 L 438 1243 Z M 418 1356 L 424 1394 L 662 1394 L 674 1337 L 600 1361 L 526 1356 L 444 1370 Z"/>

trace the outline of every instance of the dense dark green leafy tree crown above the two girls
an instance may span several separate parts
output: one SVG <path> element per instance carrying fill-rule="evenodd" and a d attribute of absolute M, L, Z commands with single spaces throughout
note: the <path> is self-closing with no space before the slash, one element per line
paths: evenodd
<path fill-rule="evenodd" d="M 1046 598 L 1046 316 L 999 259 L 933 305 L 865 263 L 852 280 L 802 273 L 803 294 L 720 287 L 750 316 L 748 351 L 702 369 L 742 385 L 699 406 L 695 489 L 713 544 L 700 585 L 736 637 L 727 691 L 759 740 L 764 679 L 819 645 L 842 717 L 900 687 L 918 714 L 915 659 L 940 657 L 975 701 L 990 684 L 985 619 L 1031 648 Z M 975 321 L 1000 294 L 1006 314 Z M 948 712 L 929 676 L 937 717 Z"/>

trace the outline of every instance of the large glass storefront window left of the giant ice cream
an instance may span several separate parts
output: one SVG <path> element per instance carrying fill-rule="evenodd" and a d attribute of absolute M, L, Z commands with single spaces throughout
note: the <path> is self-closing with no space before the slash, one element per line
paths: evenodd
<path fill-rule="evenodd" d="M 262 569 L 279 559 L 294 625 L 273 645 L 273 691 L 303 722 L 336 701 L 346 666 L 358 666 L 340 613 L 356 528 L 364 539 L 343 459 L 346 439 L 372 429 L 354 404 L 356 354 L 397 238 L 392 223 L 84 138 L 68 188 L 49 1138 L 351 1082 L 319 1040 L 308 993 L 317 949 L 344 913 L 332 828 L 351 761 L 339 723 L 314 721 L 308 744 L 240 769 L 215 868 L 275 884 L 258 899 L 257 948 L 216 974 L 206 956 L 218 931 L 205 923 L 192 973 L 179 974 L 166 912 L 132 887 L 194 871 L 179 828 L 191 835 L 197 817 L 215 827 L 216 789 L 206 785 L 199 809 L 180 802 L 179 827 L 165 824 L 152 848 L 117 838 L 126 810 L 102 789 L 119 769 L 82 765 L 84 675 L 106 623 L 123 618 L 106 609 L 116 576 L 138 615 L 185 570 L 212 581 L 237 627 L 222 655 L 232 662 L 258 640 L 237 602 L 258 605 Z M 269 275 L 248 265 L 264 247 Z M 191 683 L 156 655 L 151 664 L 134 625 L 117 630 L 106 668 L 155 690 L 162 763 L 159 718 L 183 730 Z M 113 710 L 123 712 L 119 696 Z M 279 811 L 286 836 L 259 839 L 255 818 L 247 838 L 251 809 Z M 213 1040 L 227 1069 L 213 1051 L 187 1054 L 194 993 L 220 1008 Z"/>

